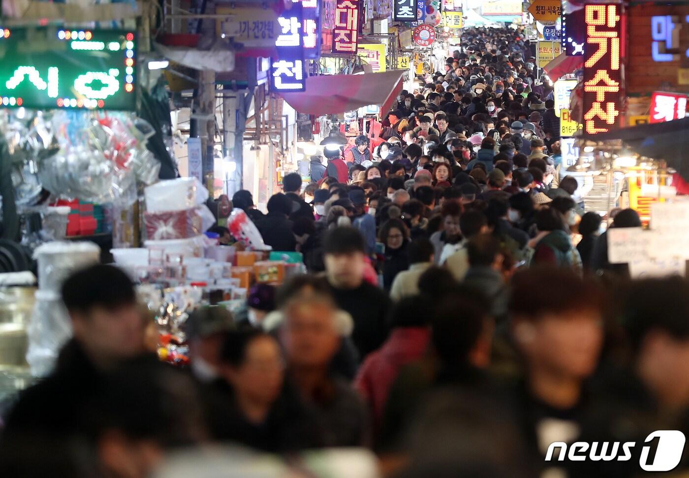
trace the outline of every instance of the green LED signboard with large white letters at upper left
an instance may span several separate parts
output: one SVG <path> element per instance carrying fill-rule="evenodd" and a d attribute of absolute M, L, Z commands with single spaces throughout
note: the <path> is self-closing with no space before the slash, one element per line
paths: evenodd
<path fill-rule="evenodd" d="M 55 27 L 0 32 L 0 106 L 136 108 L 134 32 Z"/>

